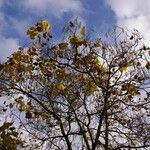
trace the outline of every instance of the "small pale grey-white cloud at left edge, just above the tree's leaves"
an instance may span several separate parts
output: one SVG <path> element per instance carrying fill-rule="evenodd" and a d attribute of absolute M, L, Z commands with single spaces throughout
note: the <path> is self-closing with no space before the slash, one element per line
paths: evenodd
<path fill-rule="evenodd" d="M 19 47 L 17 39 L 0 36 L 0 62 L 6 61 L 17 47 Z"/>

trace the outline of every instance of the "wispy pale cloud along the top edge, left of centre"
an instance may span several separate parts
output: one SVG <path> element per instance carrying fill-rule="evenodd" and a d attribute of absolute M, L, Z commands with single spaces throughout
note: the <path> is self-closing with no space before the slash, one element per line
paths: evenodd
<path fill-rule="evenodd" d="M 79 13 L 82 11 L 80 0 L 26 0 L 22 4 L 30 11 L 54 16 L 61 16 L 65 12 Z"/>

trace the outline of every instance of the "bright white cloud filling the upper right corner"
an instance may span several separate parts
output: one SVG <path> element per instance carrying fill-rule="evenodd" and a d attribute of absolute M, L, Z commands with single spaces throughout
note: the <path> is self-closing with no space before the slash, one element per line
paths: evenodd
<path fill-rule="evenodd" d="M 146 44 L 150 44 L 150 1 L 149 0 L 106 0 L 114 11 L 117 25 L 137 29 Z"/>

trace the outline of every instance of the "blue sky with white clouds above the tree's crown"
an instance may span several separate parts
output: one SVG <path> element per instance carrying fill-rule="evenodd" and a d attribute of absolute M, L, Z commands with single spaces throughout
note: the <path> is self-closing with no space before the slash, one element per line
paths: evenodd
<path fill-rule="evenodd" d="M 75 17 L 100 35 L 112 25 L 138 29 L 150 44 L 150 0 L 0 0 L 0 62 L 27 45 L 27 27 L 47 19 L 57 36 Z"/>

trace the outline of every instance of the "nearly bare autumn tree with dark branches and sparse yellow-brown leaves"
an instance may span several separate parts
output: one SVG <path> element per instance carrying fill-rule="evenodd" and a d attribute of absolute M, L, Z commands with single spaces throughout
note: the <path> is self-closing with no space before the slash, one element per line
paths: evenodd
<path fill-rule="evenodd" d="M 75 20 L 53 44 L 50 29 L 47 21 L 30 27 L 31 46 L 0 65 L 1 96 L 18 108 L 19 129 L 43 149 L 150 147 L 150 50 L 140 34 L 115 32 L 106 44 Z"/>

